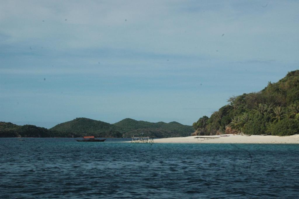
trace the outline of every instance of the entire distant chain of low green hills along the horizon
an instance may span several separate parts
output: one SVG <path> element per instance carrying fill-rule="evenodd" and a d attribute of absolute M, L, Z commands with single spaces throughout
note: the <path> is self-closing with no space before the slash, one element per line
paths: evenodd
<path fill-rule="evenodd" d="M 190 136 L 195 129 L 178 122 L 148 122 L 123 119 L 115 124 L 88 118 L 76 118 L 46 129 L 34 125 L 19 126 L 10 122 L 0 122 L 0 137 L 132 137 L 154 136 L 157 138 Z"/>

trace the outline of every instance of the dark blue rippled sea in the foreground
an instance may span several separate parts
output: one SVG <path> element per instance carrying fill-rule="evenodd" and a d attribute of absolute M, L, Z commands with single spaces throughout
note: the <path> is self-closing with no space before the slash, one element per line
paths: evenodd
<path fill-rule="evenodd" d="M 0 198 L 299 197 L 299 145 L 129 140 L 0 138 Z"/>

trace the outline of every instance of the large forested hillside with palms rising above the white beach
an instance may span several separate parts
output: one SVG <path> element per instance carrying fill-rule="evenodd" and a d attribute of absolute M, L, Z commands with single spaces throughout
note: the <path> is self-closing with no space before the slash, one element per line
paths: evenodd
<path fill-rule="evenodd" d="M 193 123 L 193 135 L 245 133 L 293 135 L 299 133 L 299 70 L 260 92 L 233 96 L 210 118 Z"/>

